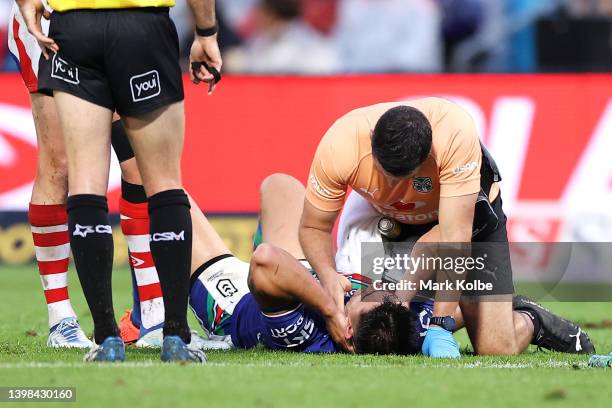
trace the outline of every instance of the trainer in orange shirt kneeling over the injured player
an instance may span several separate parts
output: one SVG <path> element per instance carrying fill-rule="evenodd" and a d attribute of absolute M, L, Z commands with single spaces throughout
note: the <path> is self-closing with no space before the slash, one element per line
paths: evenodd
<path fill-rule="evenodd" d="M 351 194 L 359 194 L 378 213 L 421 231 L 420 240 L 501 243 L 503 250 L 494 266 L 502 292 L 496 294 L 511 295 L 506 217 L 498 180 L 497 168 L 481 147 L 472 118 L 457 104 L 424 98 L 356 109 L 338 119 L 319 144 L 308 179 L 300 241 L 322 285 L 341 309 L 343 291 L 336 277 L 332 229 L 350 188 Z M 479 193 L 490 209 L 488 215 L 494 218 L 484 229 L 474 223 Z M 525 341 L 521 333 L 528 322 L 518 322 L 520 327 L 515 327 L 511 298 L 462 303 L 477 353 L 514 353 L 518 343 Z M 455 300 L 436 301 L 425 354 L 459 357 L 452 336 L 457 305 Z M 470 318 L 478 319 L 479 324 L 469 324 Z M 335 341 L 343 343 L 345 329 L 330 328 Z"/>

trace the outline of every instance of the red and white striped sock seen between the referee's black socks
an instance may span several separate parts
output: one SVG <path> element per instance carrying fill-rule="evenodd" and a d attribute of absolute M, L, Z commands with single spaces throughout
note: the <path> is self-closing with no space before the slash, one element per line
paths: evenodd
<path fill-rule="evenodd" d="M 136 275 L 142 327 L 146 330 L 164 322 L 164 299 L 149 246 L 147 203 L 119 202 L 121 230 L 128 242 L 130 262 Z"/>

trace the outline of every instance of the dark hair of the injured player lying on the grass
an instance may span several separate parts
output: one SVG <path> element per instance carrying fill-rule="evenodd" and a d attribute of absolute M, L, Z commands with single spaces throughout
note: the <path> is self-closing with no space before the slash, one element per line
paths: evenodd
<path fill-rule="evenodd" d="M 355 329 L 358 354 L 417 354 L 420 351 L 417 316 L 392 297 L 361 315 Z"/>

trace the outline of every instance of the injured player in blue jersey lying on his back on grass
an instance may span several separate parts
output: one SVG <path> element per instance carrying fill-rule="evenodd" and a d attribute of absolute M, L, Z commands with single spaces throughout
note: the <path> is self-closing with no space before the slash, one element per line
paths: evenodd
<path fill-rule="evenodd" d="M 268 177 L 261 186 L 260 232 L 263 243 L 250 264 L 234 257 L 204 215 L 192 212 L 194 248 L 190 307 L 207 332 L 211 348 L 340 352 L 327 331 L 334 319 L 348 319 L 347 342 L 356 353 L 417 354 L 433 311 L 433 301 L 410 307 L 395 294 L 368 287 L 360 275 L 338 275 L 346 289 L 340 316 L 314 278 L 298 241 L 304 200 L 302 184 L 287 175 Z M 529 299 L 514 298 L 515 319 L 525 322 L 529 343 L 561 352 L 593 352 L 586 333 Z M 457 329 L 462 325 L 457 314 Z M 580 331 L 582 335 L 572 335 Z M 221 343 L 219 343 L 221 342 Z"/>

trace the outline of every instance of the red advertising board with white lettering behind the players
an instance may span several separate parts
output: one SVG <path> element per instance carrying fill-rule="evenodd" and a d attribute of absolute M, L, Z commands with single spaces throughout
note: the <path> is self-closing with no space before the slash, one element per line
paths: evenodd
<path fill-rule="evenodd" d="M 25 208 L 35 172 L 28 97 L 17 75 L 0 76 L 0 89 L 0 210 Z M 305 180 L 319 139 L 343 113 L 429 95 L 472 113 L 501 167 L 511 215 L 562 218 L 611 202 L 610 75 L 228 76 L 213 96 L 188 81 L 185 89 L 184 181 L 209 212 L 256 212 L 268 174 Z M 21 128 L 30 135 L 16 136 Z M 116 196 L 116 177 L 111 186 Z M 559 228 L 548 223 L 540 238 Z"/>

